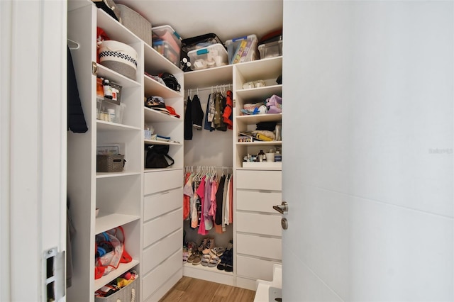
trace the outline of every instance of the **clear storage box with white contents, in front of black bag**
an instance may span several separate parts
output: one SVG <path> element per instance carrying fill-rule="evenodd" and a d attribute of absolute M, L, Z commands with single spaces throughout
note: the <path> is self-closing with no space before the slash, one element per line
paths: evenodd
<path fill-rule="evenodd" d="M 191 60 L 192 70 L 228 65 L 227 50 L 220 43 L 198 50 L 191 50 L 187 55 L 189 60 Z"/>

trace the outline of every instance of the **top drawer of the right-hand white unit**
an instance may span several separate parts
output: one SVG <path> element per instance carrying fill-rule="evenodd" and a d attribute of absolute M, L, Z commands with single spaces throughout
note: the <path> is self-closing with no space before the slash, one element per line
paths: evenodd
<path fill-rule="evenodd" d="M 236 189 L 282 191 L 282 171 L 239 170 Z"/>

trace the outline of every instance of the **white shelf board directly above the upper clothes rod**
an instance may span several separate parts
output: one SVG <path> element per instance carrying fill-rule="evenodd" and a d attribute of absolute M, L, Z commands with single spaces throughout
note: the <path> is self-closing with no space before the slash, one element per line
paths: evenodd
<path fill-rule="evenodd" d="M 231 84 L 232 78 L 233 65 L 184 72 L 184 89 L 200 87 L 200 83 L 203 83 L 204 87 Z"/>

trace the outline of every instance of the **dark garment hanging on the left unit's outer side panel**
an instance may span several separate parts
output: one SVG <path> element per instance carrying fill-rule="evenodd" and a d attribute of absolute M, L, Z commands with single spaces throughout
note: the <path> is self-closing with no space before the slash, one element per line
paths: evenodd
<path fill-rule="evenodd" d="M 67 47 L 67 128 L 74 133 L 85 133 L 88 130 L 80 103 L 70 47 Z"/>

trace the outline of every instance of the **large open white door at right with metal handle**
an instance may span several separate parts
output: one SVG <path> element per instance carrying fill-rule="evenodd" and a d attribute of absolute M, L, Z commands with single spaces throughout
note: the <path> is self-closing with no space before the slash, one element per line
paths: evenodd
<path fill-rule="evenodd" d="M 453 1 L 286 1 L 283 301 L 453 301 Z"/>

